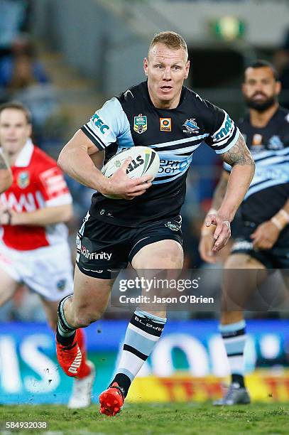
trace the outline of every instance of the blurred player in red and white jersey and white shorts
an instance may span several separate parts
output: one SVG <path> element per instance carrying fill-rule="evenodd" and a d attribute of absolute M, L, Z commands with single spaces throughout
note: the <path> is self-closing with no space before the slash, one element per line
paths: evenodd
<path fill-rule="evenodd" d="M 72 263 L 64 222 L 72 216 L 72 197 L 57 163 L 33 145 L 31 115 L 22 104 L 0 106 L 0 145 L 11 166 L 13 181 L 0 196 L 0 306 L 18 284 L 36 291 L 53 330 L 58 303 L 72 294 Z M 84 334 L 80 375 L 69 407 L 91 401 L 94 366 L 86 359 Z M 83 362 L 84 356 L 84 362 Z"/>

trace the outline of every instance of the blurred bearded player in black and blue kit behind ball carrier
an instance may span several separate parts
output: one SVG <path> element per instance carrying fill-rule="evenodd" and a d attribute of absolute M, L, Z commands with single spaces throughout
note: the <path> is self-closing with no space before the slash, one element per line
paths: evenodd
<path fill-rule="evenodd" d="M 251 295 L 256 284 L 266 278 L 268 269 L 280 268 L 281 272 L 283 269 L 283 279 L 289 287 L 284 270 L 289 269 L 289 112 L 278 104 L 278 75 L 273 65 L 265 60 L 257 60 L 246 68 L 242 90 L 249 113 L 241 119 L 239 129 L 246 137 L 256 172 L 241 204 L 236 242 L 224 267 L 260 270 L 241 274 L 241 280 L 227 280 L 223 289 L 224 307 L 229 299 L 242 307 L 246 296 Z M 214 192 L 213 208 L 219 208 L 224 198 L 228 170 L 229 167 L 224 165 L 222 178 Z M 217 255 L 212 252 L 212 233 L 211 229 L 203 227 L 200 240 L 200 254 L 209 263 L 217 262 Z M 225 310 L 220 331 L 229 359 L 231 386 L 224 398 L 215 404 L 245 404 L 250 402 L 244 385 L 246 323 L 241 308 L 231 311 L 227 304 Z"/>

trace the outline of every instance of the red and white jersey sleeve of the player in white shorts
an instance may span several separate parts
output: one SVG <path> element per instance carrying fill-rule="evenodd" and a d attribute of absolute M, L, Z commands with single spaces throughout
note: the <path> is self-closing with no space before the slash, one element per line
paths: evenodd
<path fill-rule="evenodd" d="M 72 196 L 68 190 L 65 178 L 58 166 L 44 169 L 39 173 L 40 192 L 46 207 L 67 205 L 72 203 Z"/>

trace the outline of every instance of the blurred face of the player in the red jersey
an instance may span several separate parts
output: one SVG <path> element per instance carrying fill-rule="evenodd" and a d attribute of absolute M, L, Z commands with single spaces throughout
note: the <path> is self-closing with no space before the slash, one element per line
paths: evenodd
<path fill-rule="evenodd" d="M 0 145 L 8 156 L 17 154 L 31 136 L 31 124 L 18 109 L 4 109 L 0 113 Z"/>

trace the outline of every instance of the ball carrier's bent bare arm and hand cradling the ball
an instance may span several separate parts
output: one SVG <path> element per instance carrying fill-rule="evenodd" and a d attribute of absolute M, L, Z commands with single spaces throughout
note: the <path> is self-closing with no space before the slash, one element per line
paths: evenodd
<path fill-rule="evenodd" d="M 126 169 L 131 162 L 129 159 L 110 178 L 103 176 L 94 164 L 97 161 L 95 154 L 98 152 L 97 146 L 78 130 L 60 152 L 58 165 L 79 183 L 106 195 L 133 199 L 151 187 L 151 176 L 134 179 L 127 176 Z"/>

